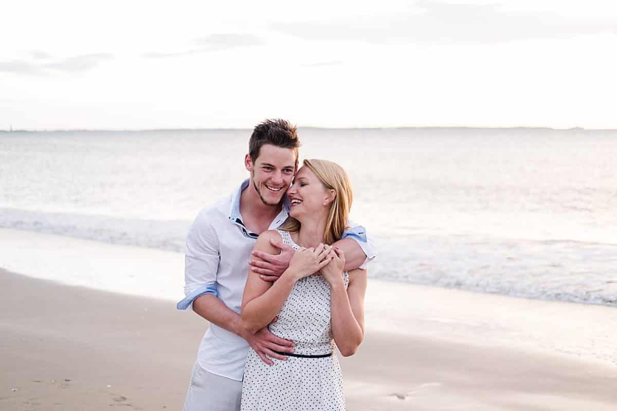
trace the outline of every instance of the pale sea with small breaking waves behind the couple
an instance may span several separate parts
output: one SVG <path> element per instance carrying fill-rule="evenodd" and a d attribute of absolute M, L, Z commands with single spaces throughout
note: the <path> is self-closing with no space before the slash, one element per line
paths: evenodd
<path fill-rule="evenodd" d="M 181 253 L 199 210 L 247 177 L 250 133 L 0 132 L 0 227 Z M 617 131 L 300 138 L 300 158 L 350 174 L 352 219 L 379 248 L 370 277 L 617 306 Z"/>

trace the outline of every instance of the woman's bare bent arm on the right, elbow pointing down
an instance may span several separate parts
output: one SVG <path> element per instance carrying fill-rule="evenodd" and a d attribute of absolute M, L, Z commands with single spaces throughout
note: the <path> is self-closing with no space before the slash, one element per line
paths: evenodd
<path fill-rule="evenodd" d="M 330 285 L 332 335 L 342 356 L 355 354 L 364 339 L 364 295 L 366 270 L 349 272 L 349 287 L 344 282 Z"/>

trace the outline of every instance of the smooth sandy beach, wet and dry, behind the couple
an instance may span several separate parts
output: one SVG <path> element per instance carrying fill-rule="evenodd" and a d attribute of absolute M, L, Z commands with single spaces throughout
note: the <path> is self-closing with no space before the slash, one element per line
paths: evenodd
<path fill-rule="evenodd" d="M 615 309 L 375 280 L 366 306 L 341 359 L 349 410 L 617 407 Z M 172 301 L 7 271 L 0 312 L 2 410 L 181 409 L 207 327 Z"/>

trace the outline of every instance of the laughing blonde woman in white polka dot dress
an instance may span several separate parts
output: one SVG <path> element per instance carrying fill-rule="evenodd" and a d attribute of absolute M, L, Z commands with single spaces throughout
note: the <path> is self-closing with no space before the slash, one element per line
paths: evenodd
<path fill-rule="evenodd" d="M 329 244 L 345 230 L 351 185 L 339 165 L 304 160 L 287 193 L 291 218 L 281 230 L 260 235 L 255 250 L 275 254 L 275 238 L 297 251 L 274 283 L 249 272 L 241 317 L 253 332 L 270 324 L 274 335 L 294 341 L 294 353 L 278 353 L 287 359 L 269 366 L 249 349 L 241 410 L 344 410 L 332 341 L 343 356 L 362 343 L 366 271 L 343 272 L 342 250 Z"/>

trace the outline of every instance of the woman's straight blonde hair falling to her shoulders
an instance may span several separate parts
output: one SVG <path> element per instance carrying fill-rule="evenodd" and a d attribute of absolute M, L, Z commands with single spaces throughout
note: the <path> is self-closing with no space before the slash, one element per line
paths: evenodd
<path fill-rule="evenodd" d="M 324 233 L 324 241 L 326 244 L 332 244 L 339 240 L 347 228 L 347 219 L 351 210 L 351 203 L 354 200 L 354 194 L 351 188 L 349 176 L 341 166 L 333 161 L 304 160 L 304 165 L 317 176 L 321 184 L 326 187 L 326 190 L 334 190 L 336 197 L 330 203 L 328 211 L 328 219 L 326 220 L 326 231 Z M 281 230 L 289 232 L 297 232 L 300 230 L 300 222 L 295 218 L 289 219 L 283 224 Z"/>

